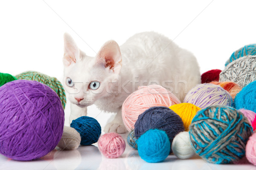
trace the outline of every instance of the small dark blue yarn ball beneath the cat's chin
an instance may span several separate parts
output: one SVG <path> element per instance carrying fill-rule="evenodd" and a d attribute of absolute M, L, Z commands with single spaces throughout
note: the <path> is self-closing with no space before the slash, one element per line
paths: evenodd
<path fill-rule="evenodd" d="M 81 116 L 72 121 L 70 127 L 75 128 L 81 136 L 81 145 L 90 145 L 99 140 L 101 126 L 99 122 L 88 116 Z"/>

